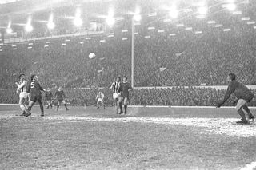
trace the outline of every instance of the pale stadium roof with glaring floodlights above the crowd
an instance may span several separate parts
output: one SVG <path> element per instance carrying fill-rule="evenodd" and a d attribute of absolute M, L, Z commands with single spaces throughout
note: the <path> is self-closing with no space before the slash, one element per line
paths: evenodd
<path fill-rule="evenodd" d="M 32 16 L 34 30 L 46 30 L 50 13 L 54 14 L 56 29 L 70 27 L 70 18 L 78 7 L 83 22 L 105 22 L 102 16 L 108 14 L 110 6 L 114 18 L 120 19 L 114 26 L 120 33 L 130 32 L 130 14 L 138 7 L 146 38 L 153 31 L 175 36 L 178 30 L 202 34 L 209 28 L 222 28 L 224 32 L 241 30 L 241 26 L 256 29 L 254 0 L 21 0 L 0 5 L 0 29 L 5 31 L 11 21 L 14 31 L 23 30 L 28 16 Z"/>

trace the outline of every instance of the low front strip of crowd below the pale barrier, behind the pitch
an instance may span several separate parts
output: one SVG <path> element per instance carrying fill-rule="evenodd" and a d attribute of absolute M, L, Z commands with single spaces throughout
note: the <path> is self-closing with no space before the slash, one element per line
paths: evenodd
<path fill-rule="evenodd" d="M 56 89 L 52 89 L 54 93 Z M 97 89 L 64 89 L 69 105 L 95 105 Z M 103 89 L 106 105 L 113 105 L 112 91 Z M 222 101 L 226 90 L 211 88 L 174 87 L 167 89 L 134 89 L 130 92 L 130 105 L 189 105 L 214 106 Z M 254 90 L 256 94 L 256 90 Z M 234 105 L 231 96 L 225 105 Z M 0 103 L 18 103 L 15 89 L 0 90 Z M 256 100 L 250 105 L 256 106 Z"/>

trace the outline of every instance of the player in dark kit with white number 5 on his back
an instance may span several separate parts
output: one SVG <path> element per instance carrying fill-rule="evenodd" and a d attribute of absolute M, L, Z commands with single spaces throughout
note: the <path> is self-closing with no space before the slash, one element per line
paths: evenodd
<path fill-rule="evenodd" d="M 31 81 L 26 89 L 26 93 L 30 95 L 29 107 L 26 110 L 26 117 L 29 117 L 31 115 L 30 111 L 36 101 L 38 101 L 38 104 L 40 105 L 41 117 L 44 116 L 41 91 L 45 92 L 45 90 L 42 89 L 37 79 L 38 77 L 33 74 L 31 76 Z"/>

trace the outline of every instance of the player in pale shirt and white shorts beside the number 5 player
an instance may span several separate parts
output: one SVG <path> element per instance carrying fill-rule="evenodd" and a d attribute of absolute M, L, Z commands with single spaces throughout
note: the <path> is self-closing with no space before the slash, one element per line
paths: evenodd
<path fill-rule="evenodd" d="M 25 74 L 21 74 L 18 76 L 19 81 L 16 82 L 15 84 L 18 86 L 17 88 L 17 93 L 19 93 L 19 101 L 18 105 L 22 109 L 22 114 L 20 116 L 26 116 L 26 99 L 27 99 L 27 94 L 26 94 L 26 85 L 27 81 L 25 80 Z"/>

